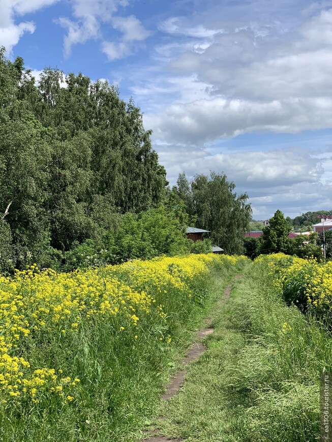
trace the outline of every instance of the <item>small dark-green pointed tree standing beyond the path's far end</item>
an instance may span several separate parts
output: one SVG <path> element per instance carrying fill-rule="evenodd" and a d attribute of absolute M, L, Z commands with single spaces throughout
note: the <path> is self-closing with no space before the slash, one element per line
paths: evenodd
<path fill-rule="evenodd" d="M 288 253 L 289 251 L 289 224 L 286 221 L 281 210 L 277 210 L 269 220 L 269 226 L 264 227 L 261 239 L 260 252 L 262 254 L 270 253 Z"/>

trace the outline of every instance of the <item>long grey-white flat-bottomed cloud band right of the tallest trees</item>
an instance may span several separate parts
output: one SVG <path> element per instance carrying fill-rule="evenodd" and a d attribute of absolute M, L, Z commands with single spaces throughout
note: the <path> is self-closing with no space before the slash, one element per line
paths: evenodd
<path fill-rule="evenodd" d="M 146 114 L 146 127 L 166 142 L 192 145 L 246 132 L 299 133 L 332 127 L 332 99 L 290 98 L 269 102 L 212 98 L 175 103 Z"/>

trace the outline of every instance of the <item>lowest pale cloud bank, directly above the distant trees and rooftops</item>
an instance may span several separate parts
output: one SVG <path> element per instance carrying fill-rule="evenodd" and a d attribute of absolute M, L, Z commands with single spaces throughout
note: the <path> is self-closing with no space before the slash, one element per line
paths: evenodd
<path fill-rule="evenodd" d="M 299 147 L 247 152 L 211 153 L 188 145 L 155 145 L 167 164 L 167 178 L 175 183 L 180 172 L 189 179 L 197 173 L 225 173 L 236 192 L 247 193 L 255 217 L 268 218 L 277 208 L 287 215 L 332 207 L 332 185 L 321 182 L 329 155 Z M 267 146 L 266 146 L 267 147 Z M 322 156 L 322 157 L 321 157 Z"/>

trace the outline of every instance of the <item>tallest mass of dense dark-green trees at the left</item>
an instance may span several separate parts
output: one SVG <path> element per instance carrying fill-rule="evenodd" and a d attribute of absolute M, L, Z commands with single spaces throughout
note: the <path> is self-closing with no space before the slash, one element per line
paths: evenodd
<path fill-rule="evenodd" d="M 11 62 L 1 49 L 0 213 L 10 204 L 12 265 L 57 267 L 78 244 L 99 243 L 120 213 L 160 204 L 166 172 L 150 135 L 116 87 L 51 68 L 36 85 L 22 58 Z"/>

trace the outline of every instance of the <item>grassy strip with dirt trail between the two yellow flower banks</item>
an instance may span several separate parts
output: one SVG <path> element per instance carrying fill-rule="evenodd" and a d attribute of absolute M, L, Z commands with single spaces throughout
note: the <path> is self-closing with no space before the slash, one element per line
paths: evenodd
<path fill-rule="evenodd" d="M 188 442 L 319 440 L 319 372 L 332 370 L 326 329 L 285 304 L 263 262 L 213 312 L 207 351 L 160 405 L 161 432 Z"/>

